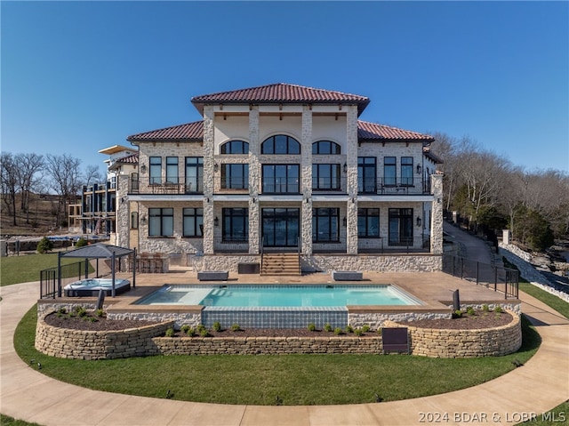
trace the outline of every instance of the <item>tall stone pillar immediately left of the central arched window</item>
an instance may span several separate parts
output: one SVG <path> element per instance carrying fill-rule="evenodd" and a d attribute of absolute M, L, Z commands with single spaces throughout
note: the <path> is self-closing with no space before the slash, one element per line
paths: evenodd
<path fill-rule="evenodd" d="M 259 254 L 260 246 L 260 141 L 259 106 L 249 111 L 249 254 Z"/>

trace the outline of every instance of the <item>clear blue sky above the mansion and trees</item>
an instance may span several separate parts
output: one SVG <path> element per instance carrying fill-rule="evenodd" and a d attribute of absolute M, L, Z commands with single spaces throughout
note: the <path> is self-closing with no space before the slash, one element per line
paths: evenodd
<path fill-rule="evenodd" d="M 567 2 L 1 2 L 2 151 L 100 165 L 199 120 L 193 96 L 290 83 L 360 117 L 569 171 Z M 102 170 L 102 169 L 101 169 Z"/>

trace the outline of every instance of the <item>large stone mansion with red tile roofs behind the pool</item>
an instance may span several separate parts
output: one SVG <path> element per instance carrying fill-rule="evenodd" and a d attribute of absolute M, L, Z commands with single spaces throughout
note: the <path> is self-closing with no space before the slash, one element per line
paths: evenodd
<path fill-rule="evenodd" d="M 191 101 L 202 121 L 127 138 L 140 174 L 118 176 L 118 245 L 198 269 L 275 252 L 304 271 L 441 268 L 431 136 L 358 120 L 364 96 L 294 84 Z"/>

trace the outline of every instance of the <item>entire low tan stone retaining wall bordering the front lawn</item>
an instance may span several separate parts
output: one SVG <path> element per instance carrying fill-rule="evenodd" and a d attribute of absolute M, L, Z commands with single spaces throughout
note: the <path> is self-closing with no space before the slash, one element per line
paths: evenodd
<path fill-rule="evenodd" d="M 430 358 L 472 358 L 513 353 L 522 344 L 520 318 L 507 326 L 440 330 L 407 326 L 411 353 Z M 383 354 L 380 334 L 362 337 L 163 337 L 173 321 L 123 331 L 86 332 L 37 323 L 36 349 L 58 358 L 111 359 L 151 355 Z M 385 326 L 401 327 L 386 321 Z"/>

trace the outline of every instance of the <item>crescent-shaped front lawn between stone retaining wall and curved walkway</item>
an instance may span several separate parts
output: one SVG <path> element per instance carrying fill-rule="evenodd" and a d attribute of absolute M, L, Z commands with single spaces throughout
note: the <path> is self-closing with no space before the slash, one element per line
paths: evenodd
<path fill-rule="evenodd" d="M 418 398 L 487 382 L 525 363 L 540 345 L 523 319 L 524 345 L 504 357 L 440 359 L 378 355 L 169 356 L 87 361 L 48 357 L 34 349 L 36 307 L 22 318 L 14 346 L 42 373 L 94 390 L 184 401 L 331 405 Z M 167 372 L 167 374 L 164 374 Z M 421 377 L 421 381 L 417 381 Z"/>

